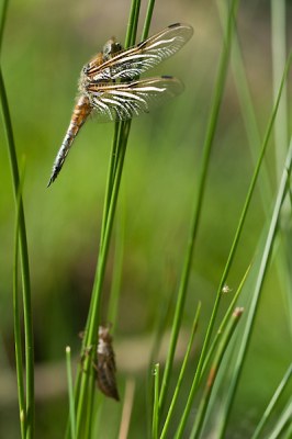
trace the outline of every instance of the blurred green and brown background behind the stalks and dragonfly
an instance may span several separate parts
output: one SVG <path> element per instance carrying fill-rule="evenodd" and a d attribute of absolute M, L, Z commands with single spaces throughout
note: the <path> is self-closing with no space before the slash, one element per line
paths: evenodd
<path fill-rule="evenodd" d="M 263 136 L 272 109 L 270 3 L 242 3 L 238 33 Z M 19 160 L 22 155 L 26 157 L 24 206 L 34 312 L 36 436 L 40 439 L 64 437 L 68 410 L 65 347 L 71 346 L 77 361 L 78 333 L 86 324 L 98 258 L 113 125 L 89 121 L 75 140 L 58 179 L 49 189 L 46 184 L 70 121 L 81 67 L 111 36 L 124 42 L 130 5 L 130 0 L 15 0 L 9 5 L 2 69 Z M 143 2 L 138 35 L 145 10 L 146 2 Z M 167 289 L 169 294 L 175 292 L 168 328 L 171 325 L 222 47 L 215 1 L 157 0 L 150 34 L 176 22 L 191 24 L 193 37 L 179 54 L 148 76 L 178 77 L 186 91 L 168 105 L 133 122 L 121 189 L 125 248 L 114 346 L 121 395 L 125 379 L 131 375 L 136 379 L 139 397 L 135 399 L 130 430 L 130 437 L 135 439 L 146 438 L 145 401 L 141 395 L 146 389 L 151 329 L 159 297 Z M 19 438 L 20 429 L 12 305 L 14 204 L 2 124 L 0 140 L 0 437 L 10 439 Z M 267 165 L 276 193 L 272 143 Z M 229 71 L 182 322 L 179 351 L 182 348 L 183 352 L 201 300 L 192 364 L 200 352 L 252 171 Z M 228 285 L 234 291 L 259 246 L 263 224 L 262 204 L 256 191 L 228 277 Z M 114 248 L 111 248 L 103 296 L 104 319 L 113 256 Z M 252 279 L 252 273 L 250 275 Z M 250 437 L 252 426 L 291 361 L 283 293 L 271 266 L 227 437 Z M 224 315 L 232 295 L 223 297 L 220 316 Z M 160 357 L 162 363 L 164 352 Z M 180 362 L 181 354 L 173 380 Z M 193 369 L 190 365 L 173 430 L 188 396 Z M 105 408 L 102 438 L 113 438 L 119 429 L 122 405 L 106 401 Z"/>

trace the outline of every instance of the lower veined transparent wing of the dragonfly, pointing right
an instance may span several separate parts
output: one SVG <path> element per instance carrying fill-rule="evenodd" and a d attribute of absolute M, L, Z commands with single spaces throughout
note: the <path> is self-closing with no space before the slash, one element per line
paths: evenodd
<path fill-rule="evenodd" d="M 114 122 L 148 113 L 183 91 L 183 85 L 170 76 L 133 82 L 90 85 L 91 115 L 94 122 Z"/>

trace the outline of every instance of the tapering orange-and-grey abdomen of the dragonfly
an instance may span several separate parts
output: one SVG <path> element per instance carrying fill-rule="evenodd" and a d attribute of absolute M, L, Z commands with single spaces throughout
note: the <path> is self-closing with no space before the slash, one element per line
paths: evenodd
<path fill-rule="evenodd" d="M 90 114 L 90 102 L 87 95 L 82 94 L 74 109 L 74 113 L 71 116 L 70 125 L 67 130 L 66 136 L 63 140 L 63 144 L 59 148 L 59 151 L 57 154 L 56 160 L 54 161 L 50 179 L 47 183 L 47 188 L 53 183 L 56 178 L 58 177 L 59 171 L 61 170 L 61 167 L 64 165 L 64 161 L 67 157 L 67 154 L 69 153 L 69 149 L 71 147 L 71 144 L 74 143 L 75 137 L 77 136 L 77 133 L 81 128 L 81 126 L 85 124 L 88 115 Z"/>

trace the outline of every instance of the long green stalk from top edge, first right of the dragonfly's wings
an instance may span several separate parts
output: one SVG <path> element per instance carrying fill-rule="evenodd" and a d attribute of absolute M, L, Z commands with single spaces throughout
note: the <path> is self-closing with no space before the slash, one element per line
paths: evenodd
<path fill-rule="evenodd" d="M 190 269 L 191 269 L 191 262 L 192 262 L 194 240 L 195 240 L 195 236 L 196 236 L 196 229 L 198 229 L 198 225 L 199 225 L 199 218 L 200 218 L 200 214 L 201 214 L 203 194 L 204 194 L 204 189 L 205 189 L 207 164 L 210 160 L 211 147 L 213 145 L 215 127 L 216 127 L 216 123 L 217 123 L 217 119 L 218 119 L 218 112 L 220 112 L 220 106 L 221 106 L 221 101 L 222 101 L 222 95 L 223 95 L 223 90 L 224 90 L 224 83 L 225 83 L 227 64 L 228 64 L 228 55 L 229 55 L 229 48 L 231 48 L 231 41 L 232 41 L 232 32 L 233 32 L 233 27 L 234 27 L 234 14 L 235 14 L 237 4 L 238 4 L 238 0 L 233 0 L 231 11 L 229 11 L 228 25 L 226 29 L 226 37 L 224 41 L 223 50 L 222 50 L 221 59 L 220 59 L 220 67 L 218 67 L 218 72 L 217 72 L 215 92 L 214 92 L 214 97 L 213 97 L 211 115 L 210 115 L 209 126 L 207 126 L 207 132 L 206 132 L 206 138 L 205 138 L 205 143 L 204 143 L 204 148 L 203 148 L 203 158 L 202 158 L 202 165 L 201 165 L 200 178 L 199 178 L 199 184 L 198 184 L 198 195 L 196 195 L 196 200 L 194 203 L 194 210 L 193 210 L 192 219 L 191 219 L 191 229 L 190 229 L 189 239 L 188 239 L 188 248 L 187 248 L 187 252 L 186 252 L 186 260 L 184 260 L 184 264 L 183 264 L 183 272 L 182 272 L 179 295 L 178 295 L 178 301 L 177 301 L 177 306 L 176 306 L 176 314 L 175 314 L 173 324 L 172 324 L 170 346 L 169 346 L 168 358 L 167 358 L 167 362 L 166 362 L 164 380 L 162 380 L 162 385 L 161 385 L 161 392 L 160 392 L 160 398 L 159 398 L 160 412 L 162 412 L 166 395 L 167 395 L 167 390 L 169 386 L 169 380 L 170 380 L 171 370 L 172 370 L 175 350 L 176 350 L 176 346 L 177 346 L 177 340 L 178 340 L 178 335 L 179 335 L 179 329 L 180 329 L 180 324 L 181 324 L 181 318 L 182 318 L 182 313 L 183 313 L 183 306 L 184 306 L 187 288 L 188 288 L 188 283 L 189 283 L 189 275 L 190 275 Z M 206 341 L 209 341 L 209 339 Z"/>

